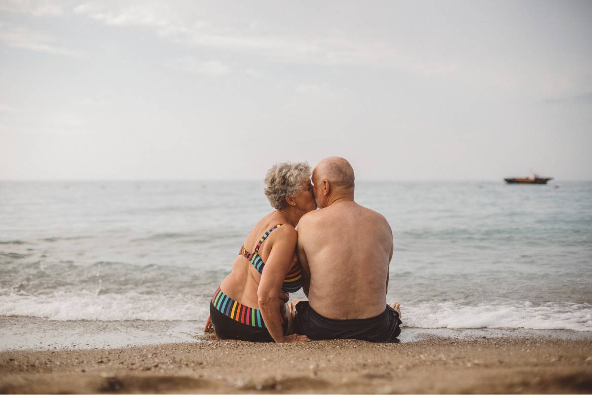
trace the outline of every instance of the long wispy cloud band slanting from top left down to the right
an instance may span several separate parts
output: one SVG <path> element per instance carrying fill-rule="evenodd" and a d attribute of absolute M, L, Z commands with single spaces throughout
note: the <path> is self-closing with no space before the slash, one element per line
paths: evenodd
<path fill-rule="evenodd" d="M 193 9 L 186 8 L 191 7 L 187 5 L 182 6 L 184 9 L 175 9 L 163 3 L 139 4 L 89 1 L 75 7 L 74 12 L 107 25 L 141 26 L 175 44 L 260 57 L 266 62 L 388 69 L 505 91 L 526 88 L 545 95 L 562 94 L 573 88 L 571 79 L 562 72 L 552 69 L 533 72 L 538 66 L 520 71 L 511 60 L 500 59 L 492 65 L 487 60 L 475 62 L 462 54 L 444 58 L 430 53 L 421 54 L 414 49 L 407 49 L 406 52 L 404 46 L 389 41 L 388 37 L 363 39 L 356 36 L 355 31 L 348 33 L 347 29 L 332 28 L 324 34 L 313 35 L 305 29 L 291 32 L 278 30 L 260 21 L 214 23 L 202 17 L 203 10 L 198 10 L 197 14 Z M 181 62 L 178 68 L 200 72 L 199 66 L 185 63 Z M 213 66 L 212 69 L 217 68 Z M 215 73 L 218 71 L 210 74 Z"/>

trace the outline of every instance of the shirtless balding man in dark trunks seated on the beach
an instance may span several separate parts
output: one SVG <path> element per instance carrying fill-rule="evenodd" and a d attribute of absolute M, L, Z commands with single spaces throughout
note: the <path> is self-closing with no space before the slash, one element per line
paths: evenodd
<path fill-rule="evenodd" d="M 308 301 L 295 305 L 294 332 L 313 340 L 394 341 L 401 320 L 400 305 L 387 306 L 386 300 L 391 227 L 381 214 L 353 200 L 347 160 L 321 160 L 312 181 L 321 210 L 298 223 Z"/>

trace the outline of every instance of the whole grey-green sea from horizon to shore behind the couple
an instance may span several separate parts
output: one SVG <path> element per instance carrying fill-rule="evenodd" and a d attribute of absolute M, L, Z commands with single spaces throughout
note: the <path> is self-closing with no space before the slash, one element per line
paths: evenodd
<path fill-rule="evenodd" d="M 592 182 L 358 182 L 356 200 L 391 224 L 406 326 L 592 331 Z M 260 182 L 0 182 L 0 316 L 204 321 L 269 211 Z"/>

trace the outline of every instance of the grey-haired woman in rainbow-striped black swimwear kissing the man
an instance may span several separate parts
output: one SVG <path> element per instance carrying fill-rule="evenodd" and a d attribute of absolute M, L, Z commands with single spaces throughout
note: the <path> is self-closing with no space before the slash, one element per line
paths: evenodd
<path fill-rule="evenodd" d="M 232 271 L 215 291 L 205 330 L 221 339 L 251 342 L 304 340 L 289 335 L 288 292 L 302 287 L 295 247 L 296 225 L 316 210 L 307 163 L 278 163 L 265 177 L 265 195 L 274 211 L 244 239 Z"/>

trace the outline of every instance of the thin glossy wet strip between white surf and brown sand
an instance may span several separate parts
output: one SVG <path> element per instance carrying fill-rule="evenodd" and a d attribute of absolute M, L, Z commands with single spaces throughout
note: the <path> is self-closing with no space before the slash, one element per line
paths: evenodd
<path fill-rule="evenodd" d="M 22 328 L 27 332 L 23 333 Z M 199 321 L 56 321 L 38 317 L 0 317 L 0 352 L 114 349 L 182 342 L 201 342 Z M 569 329 L 525 328 L 401 328 L 398 340 L 418 342 L 433 337 L 474 340 L 481 338 L 551 338 L 592 340 L 592 332 Z M 205 337 L 207 339 L 207 336 Z"/>

